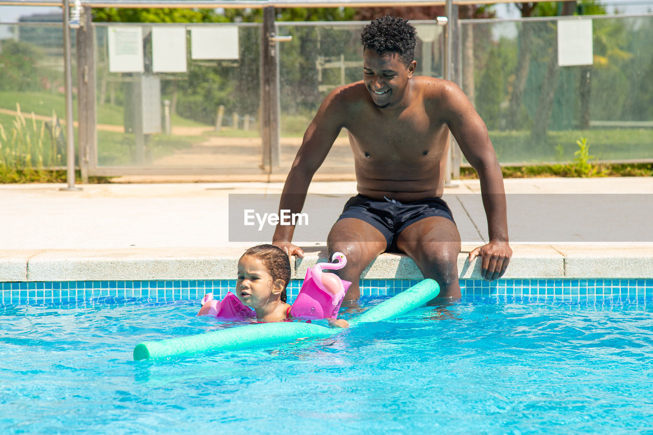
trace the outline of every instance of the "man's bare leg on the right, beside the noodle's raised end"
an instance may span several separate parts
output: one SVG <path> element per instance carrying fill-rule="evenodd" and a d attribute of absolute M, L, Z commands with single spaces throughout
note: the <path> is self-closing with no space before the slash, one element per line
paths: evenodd
<path fill-rule="evenodd" d="M 397 248 L 415 261 L 424 278 L 438 282 L 439 298 L 460 298 L 460 234 L 453 221 L 439 216 L 424 217 L 399 234 Z"/>

